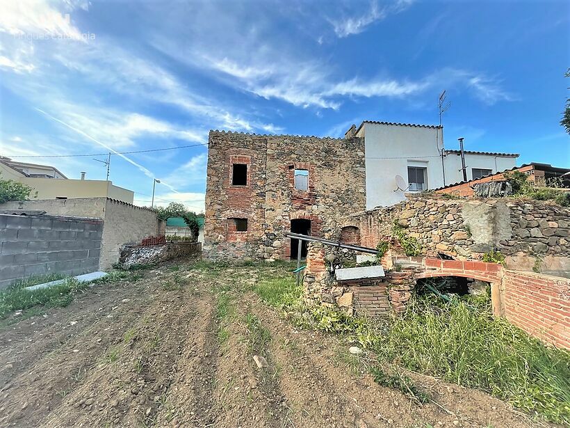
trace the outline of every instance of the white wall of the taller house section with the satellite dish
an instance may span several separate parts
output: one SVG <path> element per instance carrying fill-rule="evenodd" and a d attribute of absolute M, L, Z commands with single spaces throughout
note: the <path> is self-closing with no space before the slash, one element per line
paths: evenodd
<path fill-rule="evenodd" d="M 396 191 L 396 175 L 407 182 L 408 166 L 428 169 L 428 188 L 443 186 L 441 129 L 364 122 L 357 136 L 364 136 L 366 148 L 366 209 L 405 199 Z"/>

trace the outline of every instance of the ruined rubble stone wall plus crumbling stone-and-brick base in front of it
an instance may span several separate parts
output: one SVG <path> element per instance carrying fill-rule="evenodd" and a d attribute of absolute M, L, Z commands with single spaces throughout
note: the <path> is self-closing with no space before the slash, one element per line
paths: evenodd
<path fill-rule="evenodd" d="M 353 283 L 338 283 L 329 273 L 335 257 L 353 260 L 354 253 L 311 243 L 304 275 L 307 301 L 370 315 L 405 310 L 421 269 L 423 257 L 446 255 L 457 260 L 478 260 L 487 251 L 507 256 L 509 269 L 532 271 L 541 261 L 544 274 L 569 276 L 570 210 L 536 200 L 448 200 L 409 198 L 398 205 L 355 214 L 339 223 L 335 237 L 358 227 L 362 246 L 375 248 L 389 241 L 382 257 L 386 277 Z M 419 257 L 405 257 L 392 225 L 397 221 L 406 234 L 421 244 Z M 394 266 L 397 264 L 398 266 Z"/>

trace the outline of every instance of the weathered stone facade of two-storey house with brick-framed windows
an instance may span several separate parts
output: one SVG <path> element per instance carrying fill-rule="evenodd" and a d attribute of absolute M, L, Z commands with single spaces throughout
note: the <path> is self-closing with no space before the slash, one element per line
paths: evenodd
<path fill-rule="evenodd" d="M 244 184 L 232 184 L 236 164 L 247 166 Z M 295 170 L 307 171 L 307 190 L 295 188 Z M 288 258 L 291 221 L 338 237 L 342 219 L 364 207 L 363 138 L 210 132 L 205 257 Z"/>

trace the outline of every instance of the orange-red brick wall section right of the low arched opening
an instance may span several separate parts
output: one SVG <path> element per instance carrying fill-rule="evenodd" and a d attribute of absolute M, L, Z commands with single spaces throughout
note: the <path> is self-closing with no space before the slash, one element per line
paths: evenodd
<path fill-rule="evenodd" d="M 570 279 L 506 270 L 503 306 L 512 324 L 570 349 Z"/>

